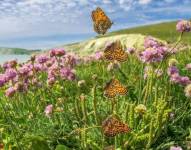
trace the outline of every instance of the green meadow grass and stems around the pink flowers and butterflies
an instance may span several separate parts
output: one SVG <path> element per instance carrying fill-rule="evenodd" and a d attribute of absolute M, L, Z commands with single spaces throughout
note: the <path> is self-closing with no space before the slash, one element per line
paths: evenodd
<path fill-rule="evenodd" d="M 180 74 L 191 78 L 185 70 L 191 63 L 191 51 L 181 51 L 171 58 L 178 60 Z M 184 86 L 169 81 L 168 60 L 161 66 L 162 76 L 153 72 L 146 80 L 144 68 L 154 70 L 159 64 L 143 64 L 135 55 L 129 55 L 120 69 L 108 71 L 108 64 L 106 60 L 82 63 L 75 66 L 76 80 L 58 76 L 52 86 L 47 84 L 47 72 L 33 72 L 28 77 L 28 90 L 9 98 L 4 92 L 14 82 L 1 87 L 0 144 L 4 143 L 6 150 L 103 150 L 110 145 L 119 150 L 169 150 L 179 145 L 186 150 L 186 142 L 191 140 L 191 103 Z M 104 87 L 114 76 L 128 93 L 109 99 L 104 96 Z M 33 83 L 33 79 L 38 82 Z M 81 86 L 80 80 L 85 81 Z M 19 82 L 25 83 L 26 78 L 21 76 Z M 53 112 L 46 117 L 44 109 L 49 104 Z M 135 111 L 139 104 L 145 105 L 146 112 Z M 175 114 L 173 118 L 170 112 Z M 131 131 L 116 138 L 104 136 L 101 125 L 111 114 L 128 124 Z"/>

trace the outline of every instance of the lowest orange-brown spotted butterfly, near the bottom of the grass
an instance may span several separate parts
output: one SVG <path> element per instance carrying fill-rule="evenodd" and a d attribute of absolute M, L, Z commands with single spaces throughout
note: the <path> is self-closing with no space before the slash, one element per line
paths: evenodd
<path fill-rule="evenodd" d="M 102 130 L 105 136 L 114 137 L 117 134 L 128 133 L 131 129 L 123 123 L 117 116 L 112 115 L 102 122 Z"/>

